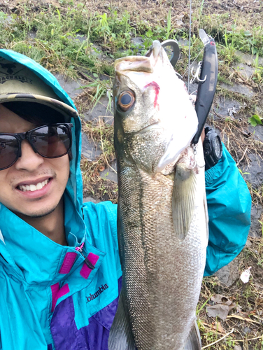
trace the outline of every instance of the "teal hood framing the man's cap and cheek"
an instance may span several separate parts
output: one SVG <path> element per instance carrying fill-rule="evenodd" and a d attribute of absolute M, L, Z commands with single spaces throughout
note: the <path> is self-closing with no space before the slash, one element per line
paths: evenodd
<path fill-rule="evenodd" d="M 33 59 L 21 55 L 18 52 L 12 50 L 0 50 L 0 57 L 7 59 L 10 62 L 17 62 L 27 66 L 33 73 L 38 76 L 43 82 L 52 88 L 59 100 L 62 100 L 68 106 L 71 106 L 76 110 L 76 106 L 69 95 L 62 89 L 57 81 L 57 78 L 52 75 L 47 69 L 43 68 L 40 64 L 36 63 Z M 73 158 L 70 162 L 71 176 L 66 186 L 73 204 L 75 204 L 78 213 L 81 214 L 81 207 L 83 204 L 83 183 L 80 172 L 80 153 L 81 153 L 81 123 L 80 118 L 71 118 L 72 128 L 72 155 Z"/>

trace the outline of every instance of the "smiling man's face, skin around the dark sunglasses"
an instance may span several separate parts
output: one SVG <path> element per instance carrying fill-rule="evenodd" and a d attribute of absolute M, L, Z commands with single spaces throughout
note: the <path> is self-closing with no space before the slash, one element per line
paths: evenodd
<path fill-rule="evenodd" d="M 0 132 L 27 132 L 37 126 L 0 104 Z M 0 170 L 0 202 L 15 214 L 45 216 L 59 204 L 68 179 L 69 155 L 43 158 L 24 140 L 21 158 Z"/>

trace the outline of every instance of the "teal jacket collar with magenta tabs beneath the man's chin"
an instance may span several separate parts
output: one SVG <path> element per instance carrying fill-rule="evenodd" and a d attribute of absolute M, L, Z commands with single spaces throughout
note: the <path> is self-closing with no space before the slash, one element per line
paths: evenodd
<path fill-rule="evenodd" d="M 97 272 L 105 253 L 89 244 L 90 232 L 87 232 L 83 218 L 67 193 L 64 194 L 64 208 L 66 239 L 69 246 L 55 243 L 0 203 L 0 230 L 3 237 L 1 239 L 0 235 L 0 263 L 6 265 L 9 274 L 28 284 L 50 286 L 67 278 L 76 269 L 81 269 L 85 259 L 83 255 L 86 257 L 90 253 L 99 257 L 90 277 Z M 76 247 L 83 243 L 81 255 Z M 70 271 L 62 274 L 61 268 L 66 253 L 76 253 L 76 259 Z M 76 275 L 82 280 L 80 283 L 83 283 L 79 271 Z"/>

